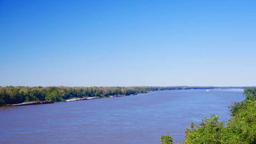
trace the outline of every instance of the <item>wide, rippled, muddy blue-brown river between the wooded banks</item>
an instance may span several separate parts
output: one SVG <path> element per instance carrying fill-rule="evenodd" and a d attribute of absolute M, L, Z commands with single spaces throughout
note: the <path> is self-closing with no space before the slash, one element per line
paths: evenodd
<path fill-rule="evenodd" d="M 204 116 L 228 120 L 242 89 L 156 91 L 134 96 L 0 108 L 0 143 L 159 144 Z"/>

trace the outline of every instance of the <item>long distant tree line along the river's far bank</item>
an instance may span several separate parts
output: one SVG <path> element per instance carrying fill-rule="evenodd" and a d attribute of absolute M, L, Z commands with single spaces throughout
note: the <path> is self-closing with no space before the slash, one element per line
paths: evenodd
<path fill-rule="evenodd" d="M 64 101 L 70 98 L 108 97 L 111 95 L 130 95 L 158 90 L 180 89 L 213 89 L 213 88 L 245 88 L 245 87 L 202 87 L 202 86 L 136 86 L 136 87 L 0 87 L 0 106 L 29 101 Z"/>

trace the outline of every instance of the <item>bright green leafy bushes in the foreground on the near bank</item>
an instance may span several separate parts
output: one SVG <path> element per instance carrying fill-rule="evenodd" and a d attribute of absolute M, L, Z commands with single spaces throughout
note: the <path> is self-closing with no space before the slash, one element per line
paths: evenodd
<path fill-rule="evenodd" d="M 228 122 L 220 116 L 205 117 L 202 123 L 190 124 L 183 144 L 256 144 L 256 88 L 244 89 L 245 100 L 232 103 Z M 162 144 L 174 144 L 170 135 L 160 137 Z"/>

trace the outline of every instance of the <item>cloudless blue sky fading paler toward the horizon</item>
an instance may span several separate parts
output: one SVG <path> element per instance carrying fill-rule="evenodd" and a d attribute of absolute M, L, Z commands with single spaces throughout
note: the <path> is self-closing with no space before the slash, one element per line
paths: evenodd
<path fill-rule="evenodd" d="M 0 86 L 256 86 L 256 1 L 0 1 Z"/>

